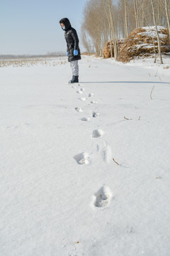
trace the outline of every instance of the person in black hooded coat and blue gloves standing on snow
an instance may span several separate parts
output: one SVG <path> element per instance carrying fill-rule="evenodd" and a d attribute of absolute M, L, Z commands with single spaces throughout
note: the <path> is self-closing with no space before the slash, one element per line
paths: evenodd
<path fill-rule="evenodd" d="M 79 82 L 79 65 L 78 60 L 81 60 L 79 49 L 79 38 L 77 31 L 72 28 L 68 18 L 60 20 L 60 26 L 65 31 L 65 40 L 67 43 L 67 56 L 72 68 L 72 80 L 69 83 Z"/>

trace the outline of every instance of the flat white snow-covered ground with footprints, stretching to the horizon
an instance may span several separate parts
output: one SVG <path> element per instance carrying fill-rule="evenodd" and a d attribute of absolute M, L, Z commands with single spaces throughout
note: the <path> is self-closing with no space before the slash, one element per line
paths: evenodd
<path fill-rule="evenodd" d="M 0 68 L 0 254 L 169 256 L 170 59 L 65 60 Z"/>

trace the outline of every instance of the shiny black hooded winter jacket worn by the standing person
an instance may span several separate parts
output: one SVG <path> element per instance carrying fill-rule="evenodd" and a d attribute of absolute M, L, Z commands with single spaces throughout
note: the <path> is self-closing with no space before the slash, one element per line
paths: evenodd
<path fill-rule="evenodd" d="M 65 40 L 67 42 L 68 60 L 81 60 L 81 53 L 79 49 L 79 38 L 77 31 L 72 28 L 68 18 L 62 18 L 60 24 L 63 23 L 65 26 Z M 74 50 L 78 50 L 78 55 L 74 56 Z"/>

